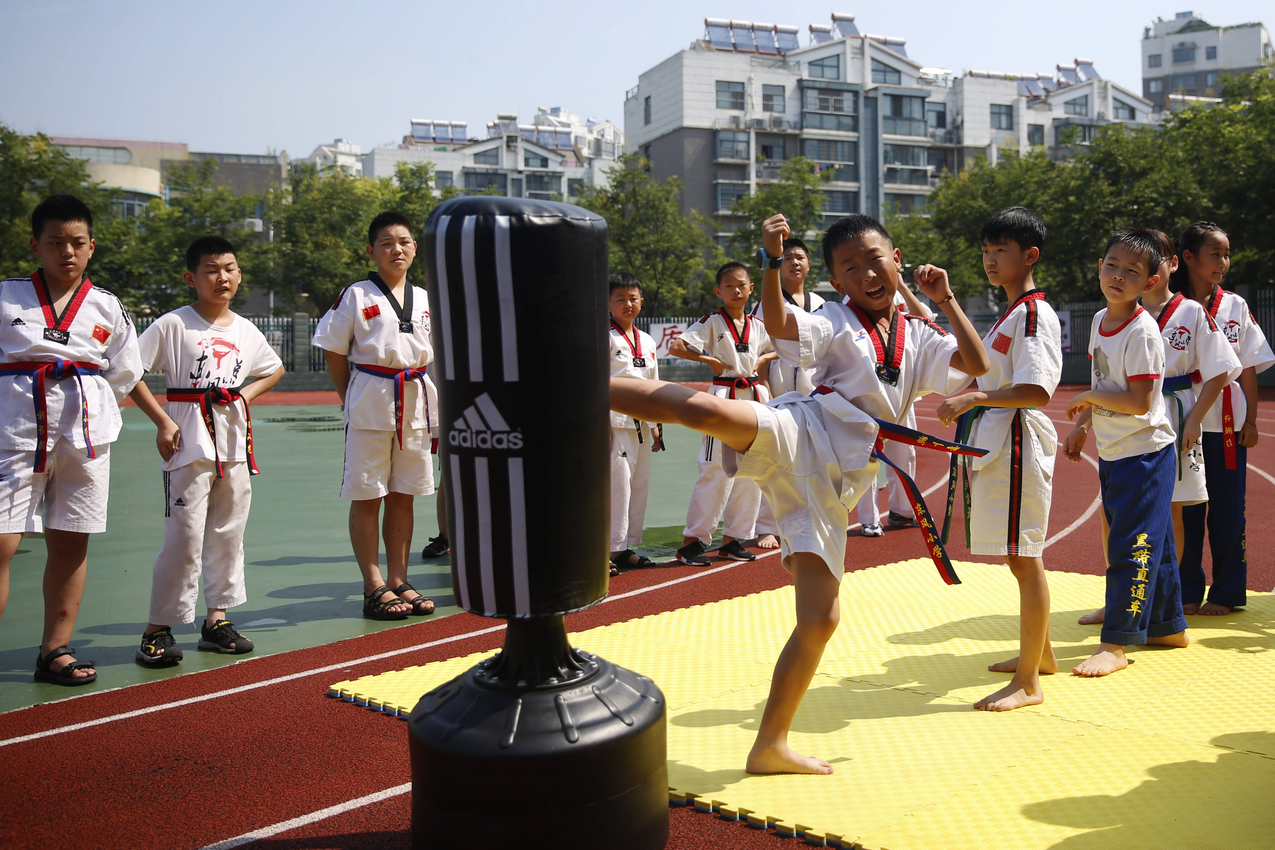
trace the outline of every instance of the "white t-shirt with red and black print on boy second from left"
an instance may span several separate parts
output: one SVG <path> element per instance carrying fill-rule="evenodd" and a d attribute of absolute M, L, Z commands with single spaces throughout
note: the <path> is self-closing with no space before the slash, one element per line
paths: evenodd
<path fill-rule="evenodd" d="M 212 325 L 191 306 L 159 316 L 138 338 L 142 364 L 148 372 L 164 372 L 168 386 L 182 390 L 238 387 L 249 376 L 273 375 L 283 362 L 256 325 L 233 315 L 229 325 Z M 214 459 L 200 405 L 173 401 L 164 412 L 181 429 L 181 445 L 163 461 L 164 472 L 180 469 L 199 457 Z M 222 460 L 247 460 L 247 419 L 244 401 L 212 405 L 217 427 L 215 455 Z"/>

